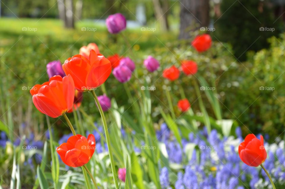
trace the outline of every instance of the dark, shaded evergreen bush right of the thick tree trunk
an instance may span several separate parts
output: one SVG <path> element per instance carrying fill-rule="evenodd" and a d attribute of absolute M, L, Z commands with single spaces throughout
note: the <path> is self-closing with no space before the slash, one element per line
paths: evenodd
<path fill-rule="evenodd" d="M 268 47 L 267 38 L 284 30 L 267 0 L 227 0 L 221 2 L 220 8 L 222 15 L 215 19 L 214 39 L 230 43 L 240 61 L 246 60 L 246 51 Z M 270 29 L 273 31 L 266 31 Z"/>

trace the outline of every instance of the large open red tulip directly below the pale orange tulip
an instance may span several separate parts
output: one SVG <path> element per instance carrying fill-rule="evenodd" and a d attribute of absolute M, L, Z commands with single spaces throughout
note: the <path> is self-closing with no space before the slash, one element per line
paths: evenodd
<path fill-rule="evenodd" d="M 110 61 L 92 49 L 89 60 L 82 55 L 75 55 L 65 60 L 64 72 L 70 74 L 75 88 L 79 91 L 90 91 L 102 85 L 112 71 Z"/>

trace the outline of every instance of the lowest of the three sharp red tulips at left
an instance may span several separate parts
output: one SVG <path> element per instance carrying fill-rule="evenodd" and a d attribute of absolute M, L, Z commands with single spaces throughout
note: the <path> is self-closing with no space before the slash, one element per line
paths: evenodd
<path fill-rule="evenodd" d="M 88 163 L 95 151 L 95 137 L 89 134 L 88 138 L 77 134 L 69 137 L 66 143 L 56 148 L 61 160 L 68 166 L 80 167 Z"/>

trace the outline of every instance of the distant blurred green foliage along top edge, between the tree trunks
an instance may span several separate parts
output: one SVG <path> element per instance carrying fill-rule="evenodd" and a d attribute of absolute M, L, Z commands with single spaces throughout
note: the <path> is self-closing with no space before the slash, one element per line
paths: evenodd
<path fill-rule="evenodd" d="M 77 18 L 80 15 L 76 15 L 76 5 L 78 0 L 74 0 L 74 13 Z M 169 14 L 176 14 L 175 9 L 179 8 L 177 1 L 168 0 Z M 106 1 L 94 1 L 94 0 L 82 0 L 82 15 L 83 19 L 105 19 L 108 15 L 117 12 L 123 13 L 127 19 L 136 20 L 137 5 L 142 4 L 145 7 L 145 14 L 147 20 L 155 20 L 153 1 L 152 0 L 106 0 Z M 9 7 L 9 8 L 8 8 Z M 56 0 L 2 0 L 1 15 L 11 17 L 44 17 L 44 18 L 57 18 L 58 6 Z M 75 17 L 75 18 L 76 18 Z"/>

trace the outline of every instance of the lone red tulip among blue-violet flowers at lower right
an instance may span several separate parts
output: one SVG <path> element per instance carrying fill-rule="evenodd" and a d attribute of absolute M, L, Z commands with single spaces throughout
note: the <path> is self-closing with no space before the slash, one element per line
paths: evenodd
<path fill-rule="evenodd" d="M 267 158 L 267 153 L 263 145 L 263 137 L 260 140 L 254 134 L 248 134 L 238 147 L 238 154 L 241 161 L 248 166 L 258 167 Z"/>

